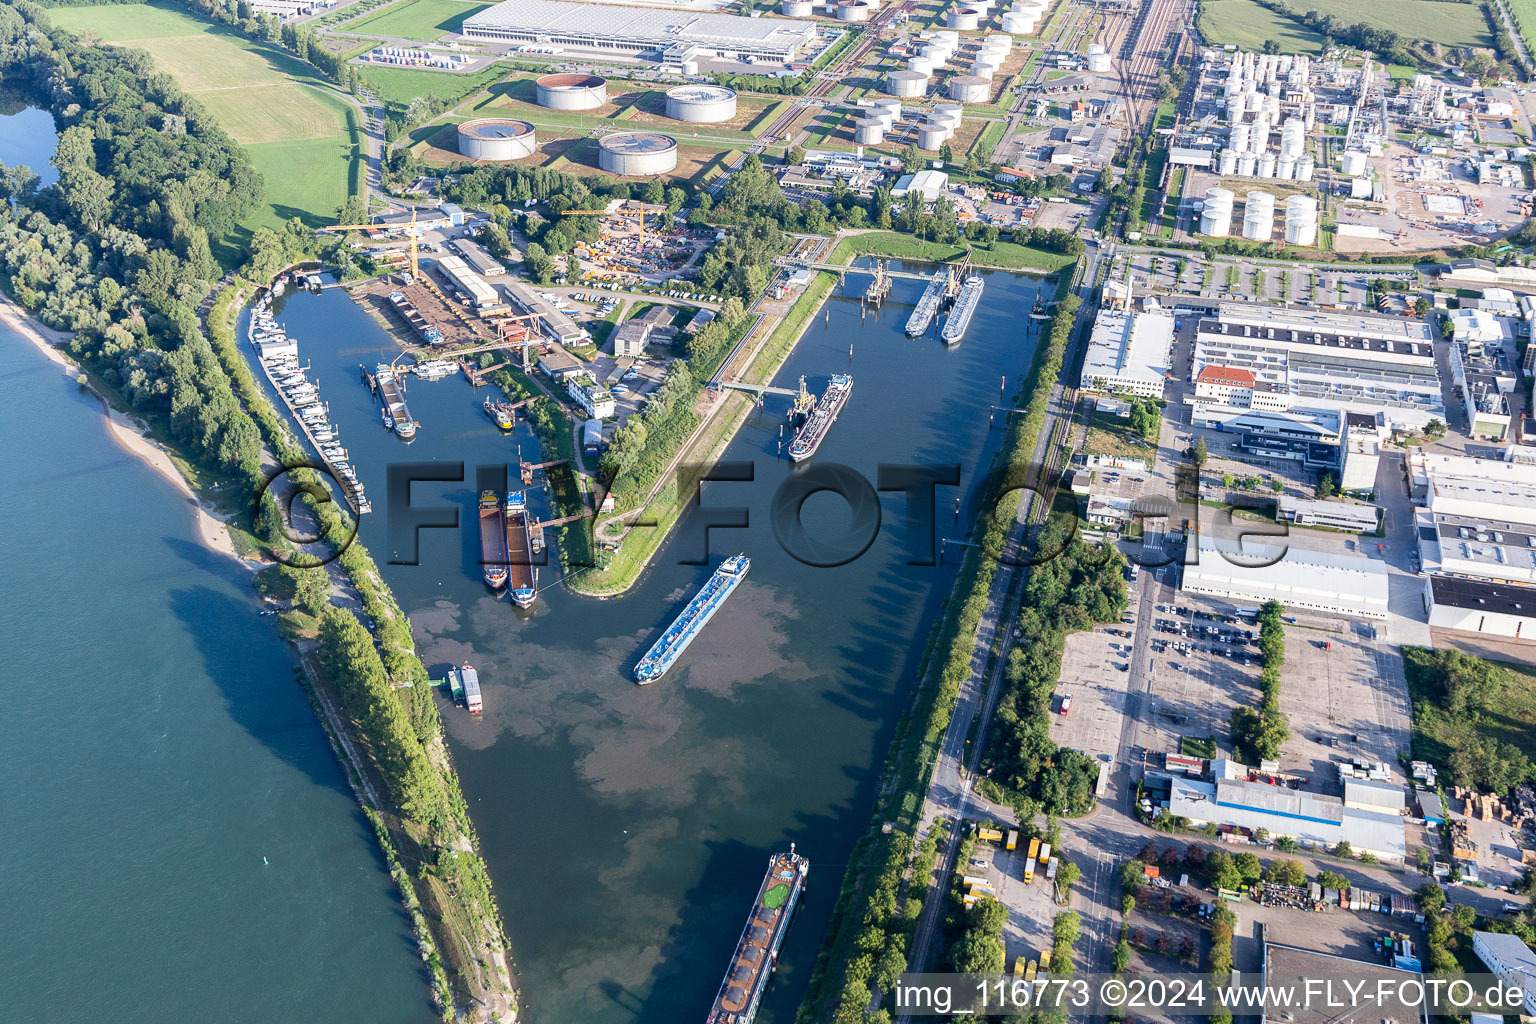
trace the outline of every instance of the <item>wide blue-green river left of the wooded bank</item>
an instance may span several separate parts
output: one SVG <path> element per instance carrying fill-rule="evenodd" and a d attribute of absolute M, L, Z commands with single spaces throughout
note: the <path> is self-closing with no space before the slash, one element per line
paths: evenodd
<path fill-rule="evenodd" d="M 0 329 L 0 978 L 15 1024 L 432 1015 L 249 577 Z"/>

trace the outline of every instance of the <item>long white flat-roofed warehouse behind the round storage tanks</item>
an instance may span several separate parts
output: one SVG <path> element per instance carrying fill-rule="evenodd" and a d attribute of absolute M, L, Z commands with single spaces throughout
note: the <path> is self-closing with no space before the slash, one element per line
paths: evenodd
<path fill-rule="evenodd" d="M 816 43 L 811 23 L 565 0 L 502 0 L 464 18 L 461 31 L 479 41 L 571 46 L 668 63 L 694 57 L 788 63 Z"/>

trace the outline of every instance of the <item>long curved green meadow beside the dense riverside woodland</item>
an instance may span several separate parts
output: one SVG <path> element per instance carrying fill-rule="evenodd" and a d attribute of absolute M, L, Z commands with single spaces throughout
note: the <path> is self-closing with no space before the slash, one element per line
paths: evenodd
<path fill-rule="evenodd" d="M 58 8 L 49 17 L 74 32 L 147 51 L 244 146 L 266 180 L 266 204 L 232 238 L 215 239 L 221 259 L 258 227 L 293 216 L 329 223 L 359 187 L 359 140 L 347 101 L 293 57 L 167 5 Z"/>

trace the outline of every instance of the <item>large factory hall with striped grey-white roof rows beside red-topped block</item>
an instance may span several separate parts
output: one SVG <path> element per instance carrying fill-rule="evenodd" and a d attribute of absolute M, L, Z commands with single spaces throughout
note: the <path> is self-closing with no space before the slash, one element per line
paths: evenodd
<path fill-rule="evenodd" d="M 1378 415 L 1392 433 L 1444 421 L 1428 325 L 1401 316 L 1221 302 L 1195 330 L 1195 373 L 1253 375 L 1253 405 Z"/>

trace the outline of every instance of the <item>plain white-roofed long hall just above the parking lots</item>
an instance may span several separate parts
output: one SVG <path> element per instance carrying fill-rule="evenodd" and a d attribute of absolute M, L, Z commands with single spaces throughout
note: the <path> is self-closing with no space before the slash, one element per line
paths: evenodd
<path fill-rule="evenodd" d="M 1183 588 L 1238 605 L 1278 600 L 1296 611 L 1387 619 L 1387 567 L 1379 559 L 1296 545 L 1275 547 L 1201 534 L 1200 560 L 1184 568 Z"/>

